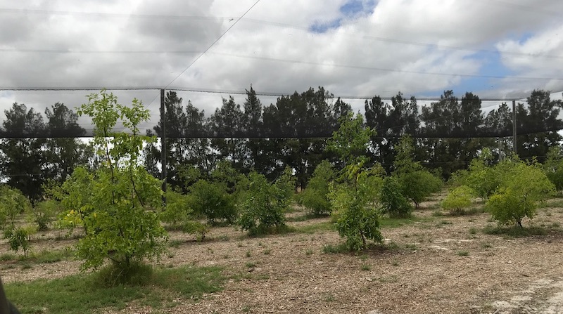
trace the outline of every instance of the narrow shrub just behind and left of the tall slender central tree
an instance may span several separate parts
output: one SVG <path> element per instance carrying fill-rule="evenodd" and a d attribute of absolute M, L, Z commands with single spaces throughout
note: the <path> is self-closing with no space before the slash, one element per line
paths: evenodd
<path fill-rule="evenodd" d="M 309 209 L 310 214 L 315 216 L 330 214 L 329 183 L 335 175 L 333 166 L 326 160 L 313 172 L 307 188 L 301 192 L 300 199 L 301 204 Z"/>

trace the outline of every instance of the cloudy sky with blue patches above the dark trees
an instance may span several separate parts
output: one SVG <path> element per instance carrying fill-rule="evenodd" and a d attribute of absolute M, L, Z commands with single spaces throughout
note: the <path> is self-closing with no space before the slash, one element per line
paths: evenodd
<path fill-rule="evenodd" d="M 0 89 L 225 91 L 180 93 L 208 113 L 251 84 L 519 98 L 563 91 L 562 11 L 555 0 L 0 0 Z M 0 109 L 75 107 L 87 93 L 0 91 Z M 115 93 L 156 115 L 158 91 Z"/>

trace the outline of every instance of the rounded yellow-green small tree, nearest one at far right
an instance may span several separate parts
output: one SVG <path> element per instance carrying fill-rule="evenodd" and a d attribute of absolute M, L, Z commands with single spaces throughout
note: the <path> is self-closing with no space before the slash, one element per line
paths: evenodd
<path fill-rule="evenodd" d="M 516 157 L 498 164 L 502 183 L 487 200 L 486 207 L 500 225 L 517 223 L 524 217 L 533 218 L 538 203 L 555 192 L 538 164 L 525 164 Z"/>

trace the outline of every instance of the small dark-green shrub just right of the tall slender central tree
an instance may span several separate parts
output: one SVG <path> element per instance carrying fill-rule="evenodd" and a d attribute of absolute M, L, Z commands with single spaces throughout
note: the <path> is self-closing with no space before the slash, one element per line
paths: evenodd
<path fill-rule="evenodd" d="M 412 211 L 412 205 L 403 195 L 397 178 L 389 176 L 384 179 L 381 187 L 381 211 L 392 218 L 407 218 Z"/>

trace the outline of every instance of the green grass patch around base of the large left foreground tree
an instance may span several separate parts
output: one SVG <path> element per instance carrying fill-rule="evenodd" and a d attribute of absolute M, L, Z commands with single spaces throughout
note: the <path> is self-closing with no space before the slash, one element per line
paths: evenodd
<path fill-rule="evenodd" d="M 104 287 L 101 273 L 71 275 L 55 280 L 5 284 L 8 299 L 21 313 L 99 313 L 102 308 L 122 310 L 131 301 L 158 308 L 171 297 L 200 299 L 218 292 L 226 279 L 218 267 L 159 269 L 150 273 L 147 284 L 118 284 Z M 145 274 L 146 275 L 146 274 Z M 170 300 L 170 301 L 169 301 Z"/>

